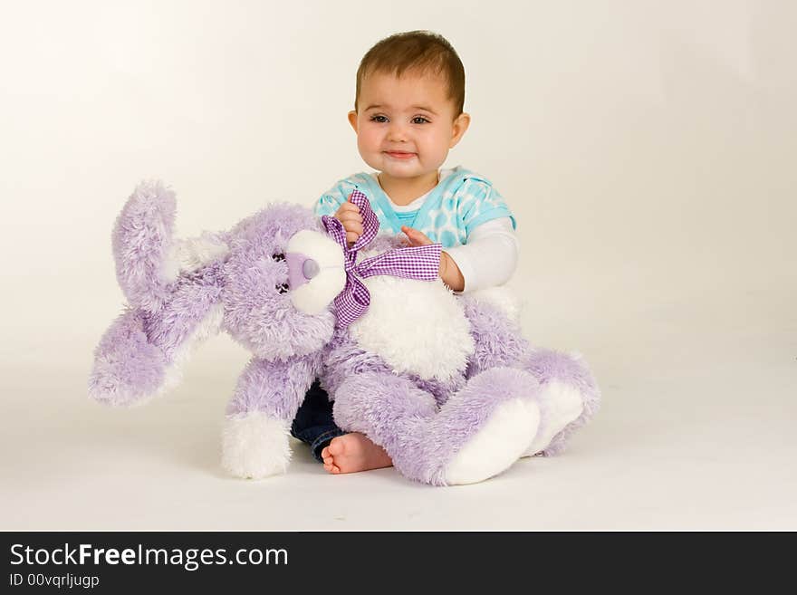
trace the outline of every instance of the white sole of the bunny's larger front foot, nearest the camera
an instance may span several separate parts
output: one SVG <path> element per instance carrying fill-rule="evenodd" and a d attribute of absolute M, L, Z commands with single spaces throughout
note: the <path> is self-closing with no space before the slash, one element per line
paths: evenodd
<path fill-rule="evenodd" d="M 448 464 L 446 483 L 475 484 L 498 475 L 520 458 L 539 425 L 540 408 L 533 400 L 502 403 Z"/>

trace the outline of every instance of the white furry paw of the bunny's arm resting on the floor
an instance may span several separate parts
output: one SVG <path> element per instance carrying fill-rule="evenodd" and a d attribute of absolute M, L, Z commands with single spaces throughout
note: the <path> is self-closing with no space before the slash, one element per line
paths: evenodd
<path fill-rule="evenodd" d="M 260 479 L 285 473 L 291 460 L 290 423 L 254 411 L 227 417 L 221 464 L 235 477 Z"/>

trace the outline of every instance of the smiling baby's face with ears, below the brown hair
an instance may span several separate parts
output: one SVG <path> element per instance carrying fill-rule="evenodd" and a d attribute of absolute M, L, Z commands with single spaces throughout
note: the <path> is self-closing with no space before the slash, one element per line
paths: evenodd
<path fill-rule="evenodd" d="M 447 82 L 433 74 L 372 72 L 360 82 L 357 106 L 349 121 L 360 156 L 393 178 L 437 175 L 469 121 L 454 113 Z"/>

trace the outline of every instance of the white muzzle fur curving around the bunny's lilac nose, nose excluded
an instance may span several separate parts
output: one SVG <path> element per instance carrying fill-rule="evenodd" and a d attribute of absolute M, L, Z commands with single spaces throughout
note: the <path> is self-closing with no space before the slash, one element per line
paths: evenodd
<path fill-rule="evenodd" d="M 293 235 L 285 253 L 304 254 L 319 266 L 319 274 L 291 291 L 293 307 L 305 314 L 326 310 L 346 285 L 341 246 L 328 235 L 305 229 Z"/>

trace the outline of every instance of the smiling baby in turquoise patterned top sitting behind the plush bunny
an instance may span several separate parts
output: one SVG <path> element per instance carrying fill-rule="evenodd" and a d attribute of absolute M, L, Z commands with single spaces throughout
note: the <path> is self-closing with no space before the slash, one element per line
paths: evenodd
<path fill-rule="evenodd" d="M 443 245 L 439 276 L 455 292 L 505 283 L 517 262 L 514 217 L 501 195 L 472 171 L 441 169 L 470 124 L 464 102 L 465 69 L 440 35 L 413 31 L 374 45 L 357 71 L 349 122 L 360 156 L 376 172 L 342 179 L 315 206 L 316 215 L 339 219 L 346 239 L 354 242 L 362 234 L 362 217 L 348 199 L 360 189 L 379 216 L 381 232 L 403 233 L 409 245 Z M 330 473 L 392 465 L 368 437 L 335 425 L 318 383 L 291 431 L 312 446 Z"/>

